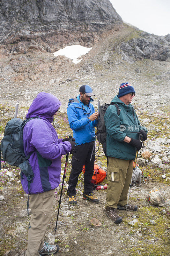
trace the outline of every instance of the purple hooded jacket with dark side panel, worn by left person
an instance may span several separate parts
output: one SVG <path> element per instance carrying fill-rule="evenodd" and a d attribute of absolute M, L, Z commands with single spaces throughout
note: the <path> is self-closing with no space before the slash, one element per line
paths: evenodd
<path fill-rule="evenodd" d="M 34 173 L 29 194 L 42 193 L 57 188 L 60 183 L 61 156 L 69 153 L 71 144 L 58 139 L 52 126 L 53 116 L 61 102 L 51 93 L 40 92 L 33 100 L 26 118 L 38 116 L 24 126 L 24 152 Z M 26 176 L 21 179 L 21 185 L 28 194 Z"/>

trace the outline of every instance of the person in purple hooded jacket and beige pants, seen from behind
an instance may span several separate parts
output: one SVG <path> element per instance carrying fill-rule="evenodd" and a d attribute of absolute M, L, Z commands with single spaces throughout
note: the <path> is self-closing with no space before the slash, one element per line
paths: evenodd
<path fill-rule="evenodd" d="M 29 190 L 32 217 L 26 256 L 50 255 L 59 250 L 58 245 L 47 244 L 43 237 L 52 214 L 54 189 L 60 183 L 61 156 L 74 148 L 74 142 L 67 141 L 69 139 L 58 139 L 51 124 L 60 105 L 61 102 L 51 93 L 40 92 L 26 115 L 26 119 L 39 117 L 26 123 L 23 130 L 24 151 L 26 156 L 33 152 L 29 163 L 34 173 Z M 25 175 L 21 185 L 28 193 Z"/>

